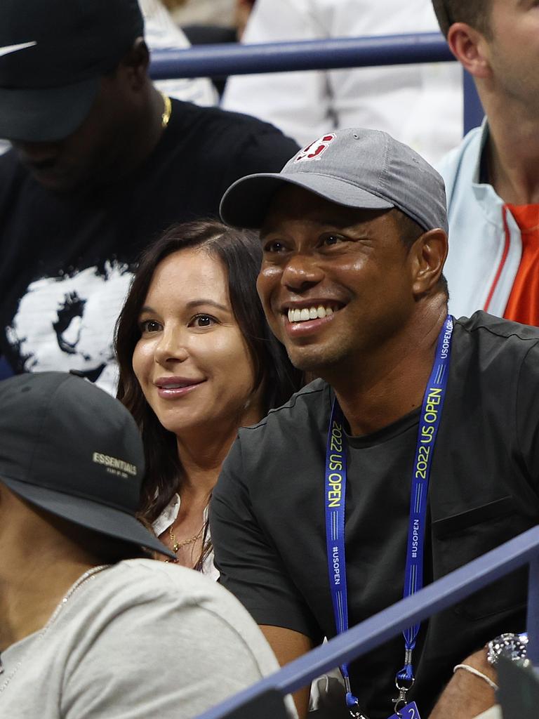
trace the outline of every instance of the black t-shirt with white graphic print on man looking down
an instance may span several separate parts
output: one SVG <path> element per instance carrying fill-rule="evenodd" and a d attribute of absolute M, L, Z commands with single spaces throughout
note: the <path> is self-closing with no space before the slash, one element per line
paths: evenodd
<path fill-rule="evenodd" d="M 51 193 L 15 152 L 0 157 L 0 359 L 13 372 L 80 370 L 111 390 L 139 252 L 174 222 L 217 218 L 234 180 L 279 171 L 297 149 L 270 124 L 172 100 L 152 155 L 91 194 Z"/>

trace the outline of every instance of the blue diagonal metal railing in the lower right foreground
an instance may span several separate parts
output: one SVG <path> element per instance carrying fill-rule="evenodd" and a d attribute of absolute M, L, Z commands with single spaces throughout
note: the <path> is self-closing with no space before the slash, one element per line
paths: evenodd
<path fill-rule="evenodd" d="M 417 594 L 397 602 L 369 619 L 318 646 L 279 672 L 203 713 L 198 719 L 225 719 L 233 710 L 262 697 L 267 690 L 281 695 L 295 692 L 315 677 L 343 662 L 376 649 L 405 628 L 466 599 L 469 595 L 525 564 L 530 565 L 528 580 L 528 655 L 539 665 L 539 527 L 534 527 L 487 552 L 446 577 L 433 582 Z M 463 656 L 464 659 L 464 656 Z M 252 706 L 245 719 L 252 718 Z"/>

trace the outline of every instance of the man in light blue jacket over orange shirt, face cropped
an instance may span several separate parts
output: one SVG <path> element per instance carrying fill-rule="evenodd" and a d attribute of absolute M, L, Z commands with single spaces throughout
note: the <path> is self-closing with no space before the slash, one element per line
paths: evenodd
<path fill-rule="evenodd" d="M 519 0 L 433 0 L 486 119 L 441 162 L 456 316 L 539 324 L 539 12 Z"/>

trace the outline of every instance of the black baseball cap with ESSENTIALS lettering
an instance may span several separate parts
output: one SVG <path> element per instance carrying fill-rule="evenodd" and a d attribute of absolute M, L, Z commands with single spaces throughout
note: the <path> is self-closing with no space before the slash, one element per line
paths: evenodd
<path fill-rule="evenodd" d="M 173 558 L 135 517 L 143 477 L 139 429 L 119 400 L 67 372 L 0 382 L 0 481 L 47 512 Z"/>

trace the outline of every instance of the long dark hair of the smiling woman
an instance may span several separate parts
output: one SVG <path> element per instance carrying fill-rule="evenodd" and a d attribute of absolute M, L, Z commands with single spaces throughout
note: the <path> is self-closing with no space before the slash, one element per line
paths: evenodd
<path fill-rule="evenodd" d="M 146 479 L 142 487 L 141 515 L 154 521 L 178 491 L 183 470 L 176 438 L 150 408 L 132 367 L 140 339 L 139 314 L 157 265 L 182 249 L 201 248 L 226 268 L 234 316 L 243 334 L 255 372 L 255 389 L 262 387 L 264 412 L 284 404 L 303 383 L 303 375 L 288 359 L 285 348 L 272 334 L 257 295 L 262 264 L 258 234 L 232 229 L 214 220 L 171 226 L 143 252 L 131 288 L 116 323 L 115 349 L 119 363 L 117 397 L 129 409 L 142 431 Z"/>

